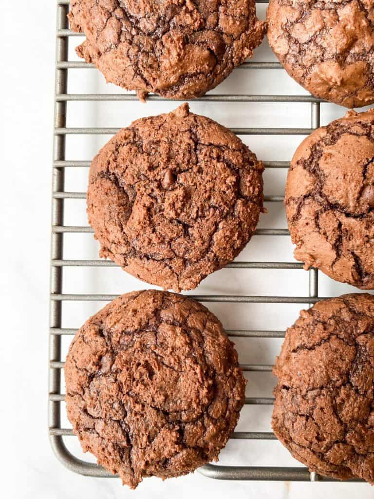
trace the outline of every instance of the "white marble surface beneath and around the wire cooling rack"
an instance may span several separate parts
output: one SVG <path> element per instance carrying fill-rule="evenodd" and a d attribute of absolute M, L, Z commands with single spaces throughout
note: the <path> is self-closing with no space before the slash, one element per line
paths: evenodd
<path fill-rule="evenodd" d="M 261 14 L 263 16 L 263 7 Z M 65 469 L 49 447 L 47 432 L 47 343 L 49 292 L 50 190 L 54 90 L 55 2 L 18 0 L 1 2 L 1 496 L 4 498 L 134 498 L 149 497 L 237 497 L 259 498 L 344 498 L 373 497 L 366 484 L 305 484 L 216 482 L 195 473 L 162 482 L 145 480 L 135 492 L 122 489 L 116 479 L 93 479 Z M 74 59 L 73 40 L 69 57 Z M 274 60 L 266 43 L 255 60 Z M 78 71 L 78 70 L 75 70 Z M 79 72 L 80 71 L 80 72 Z M 70 71 L 69 92 L 120 93 L 106 86 L 96 70 Z M 236 71 L 215 93 L 305 92 L 284 71 Z M 70 104 L 69 104 L 70 106 Z M 68 126 L 126 126 L 135 117 L 171 110 L 175 103 L 74 103 L 69 107 Z M 193 111 L 206 114 L 227 126 L 309 127 L 309 105 L 191 104 Z M 322 122 L 340 117 L 338 106 L 322 106 Z M 91 159 L 103 137 L 71 137 L 67 159 Z M 290 160 L 300 137 L 247 137 L 246 143 L 263 160 Z M 87 170 L 67 172 L 66 190 L 85 190 Z M 282 195 L 285 172 L 265 173 L 265 193 Z M 260 227 L 285 227 L 281 205 L 268 206 Z M 86 225 L 84 201 L 66 202 L 66 225 Z M 97 258 L 92 235 L 66 238 L 66 258 Z M 239 256 L 246 260 L 292 261 L 288 238 L 254 238 Z M 270 271 L 269 271 L 270 272 Z M 199 286 L 199 294 L 306 295 L 308 274 L 301 270 L 240 271 L 223 269 Z M 64 292 L 120 293 L 147 285 L 118 268 L 68 269 Z M 353 288 L 321 276 L 320 295 L 339 295 Z M 64 305 L 64 326 L 78 327 L 103 303 Z M 210 308 L 227 328 L 284 329 L 292 323 L 301 305 L 261 305 Z M 66 350 L 71 337 L 64 339 Z M 248 340 L 245 340 L 248 341 Z M 279 340 L 237 342 L 242 362 L 272 363 Z M 263 376 L 263 377 L 262 377 Z M 270 396 L 270 375 L 249 377 L 247 395 Z M 270 431 L 269 409 L 245 412 L 239 430 Z M 256 411 L 256 409 L 255 409 Z M 267 412 L 266 412 L 267 411 Z M 68 426 L 68 423 L 64 421 Z M 74 437 L 66 443 L 79 457 Z M 85 456 L 83 459 L 89 459 Z M 223 464 L 297 466 L 277 442 L 230 442 L 222 453 Z"/>

